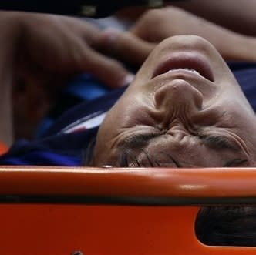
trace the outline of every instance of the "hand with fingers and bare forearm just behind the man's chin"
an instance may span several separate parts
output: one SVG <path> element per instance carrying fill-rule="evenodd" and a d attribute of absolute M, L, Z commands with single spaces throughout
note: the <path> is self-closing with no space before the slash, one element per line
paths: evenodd
<path fill-rule="evenodd" d="M 254 54 L 256 39 L 231 32 L 174 7 L 145 12 L 126 34 L 115 31 L 103 32 L 102 45 L 108 52 L 121 59 L 140 65 L 154 45 L 173 35 L 203 37 L 227 60 L 256 59 Z"/>

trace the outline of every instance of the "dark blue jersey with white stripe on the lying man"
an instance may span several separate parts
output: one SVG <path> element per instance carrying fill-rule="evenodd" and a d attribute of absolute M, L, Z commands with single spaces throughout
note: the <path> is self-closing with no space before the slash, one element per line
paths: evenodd
<path fill-rule="evenodd" d="M 229 62 L 245 96 L 256 110 L 256 63 Z M 40 137 L 20 140 L 0 156 L 1 165 L 81 166 L 89 153 L 99 125 L 106 112 L 123 94 L 126 87 L 109 91 L 91 76 L 76 79 L 65 91 L 75 101 L 83 100 L 58 119 L 47 118 Z M 94 99 L 96 98 L 96 99 Z M 70 102 L 70 100 L 62 100 Z M 58 107 L 57 107 L 58 108 Z M 58 108 L 59 109 L 59 108 Z M 54 114 L 52 114 L 54 116 Z M 45 125 L 46 123 L 46 125 Z M 44 126 L 48 129 L 42 130 Z"/>

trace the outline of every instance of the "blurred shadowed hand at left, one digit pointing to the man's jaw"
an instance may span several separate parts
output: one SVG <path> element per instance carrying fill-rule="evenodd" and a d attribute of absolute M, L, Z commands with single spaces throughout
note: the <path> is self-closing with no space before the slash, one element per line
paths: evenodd
<path fill-rule="evenodd" d="M 19 13 L 18 70 L 33 82 L 62 82 L 76 72 L 89 72 L 110 87 L 123 86 L 129 73 L 116 60 L 99 54 L 99 29 L 77 18 Z M 111 78 L 109 78 L 111 77 Z M 53 79 L 53 81 L 52 81 Z M 51 84 L 52 86 L 52 84 Z"/>

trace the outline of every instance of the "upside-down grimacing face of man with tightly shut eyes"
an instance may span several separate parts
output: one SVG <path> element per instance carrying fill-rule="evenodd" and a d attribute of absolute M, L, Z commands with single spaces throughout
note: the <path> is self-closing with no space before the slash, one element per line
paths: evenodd
<path fill-rule="evenodd" d="M 95 166 L 255 166 L 256 119 L 221 55 L 197 36 L 160 43 L 106 116 Z"/>

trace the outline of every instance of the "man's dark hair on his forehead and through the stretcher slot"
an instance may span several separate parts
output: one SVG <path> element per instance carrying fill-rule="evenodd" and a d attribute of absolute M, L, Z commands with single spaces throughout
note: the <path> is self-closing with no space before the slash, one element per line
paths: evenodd
<path fill-rule="evenodd" d="M 83 166 L 93 166 L 93 151 L 96 139 L 92 139 L 83 152 Z M 145 153 L 145 152 L 144 152 Z M 149 165 L 157 166 L 157 160 L 146 153 Z M 172 161 L 174 159 L 170 157 Z M 118 166 L 130 163 L 140 167 L 133 153 L 126 151 L 120 157 Z M 178 164 L 174 161 L 178 166 Z M 197 214 L 195 233 L 198 240 L 214 246 L 256 246 L 256 206 L 207 206 Z"/>

